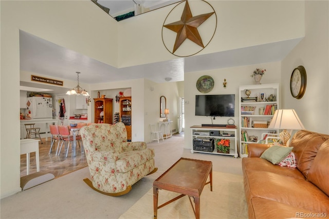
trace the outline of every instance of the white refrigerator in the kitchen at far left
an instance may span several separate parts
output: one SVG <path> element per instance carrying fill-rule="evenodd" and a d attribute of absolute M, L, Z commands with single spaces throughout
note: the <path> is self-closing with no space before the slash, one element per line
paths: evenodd
<path fill-rule="evenodd" d="M 52 118 L 51 97 L 28 97 L 26 101 L 26 114 L 32 119 Z"/>

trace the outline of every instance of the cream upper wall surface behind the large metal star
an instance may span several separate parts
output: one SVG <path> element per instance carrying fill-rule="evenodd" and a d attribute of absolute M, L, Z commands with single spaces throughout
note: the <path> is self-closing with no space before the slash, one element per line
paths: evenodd
<path fill-rule="evenodd" d="M 194 8 L 192 13 L 203 8 Z M 196 1 L 195 1 L 196 2 Z M 210 44 L 196 55 L 297 39 L 304 36 L 303 1 L 209 1 L 217 14 Z M 163 46 L 161 30 L 175 5 L 120 21 L 119 66 L 126 67 L 176 59 Z M 178 16 L 180 17 L 180 15 Z M 211 24 L 205 22 L 203 28 Z M 152 27 L 152 28 L 151 28 Z M 134 48 L 134 49 L 131 49 Z M 190 48 L 187 48 L 187 51 Z M 189 52 L 182 53 L 189 53 Z"/>

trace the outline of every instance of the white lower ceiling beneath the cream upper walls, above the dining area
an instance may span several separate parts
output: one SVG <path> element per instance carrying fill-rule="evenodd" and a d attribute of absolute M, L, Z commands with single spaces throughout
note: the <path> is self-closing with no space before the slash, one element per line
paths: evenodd
<path fill-rule="evenodd" d="M 20 68 L 23 71 L 72 81 L 77 79 L 75 72 L 80 71 L 80 82 L 89 84 L 139 78 L 157 83 L 166 82 L 166 78 L 171 78 L 171 82 L 175 82 L 184 81 L 184 74 L 192 71 L 281 61 L 300 40 L 287 40 L 165 62 L 116 68 L 20 31 Z M 21 82 L 21 85 L 31 86 L 28 82 Z M 63 93 L 63 90 L 54 90 L 52 93 Z"/>

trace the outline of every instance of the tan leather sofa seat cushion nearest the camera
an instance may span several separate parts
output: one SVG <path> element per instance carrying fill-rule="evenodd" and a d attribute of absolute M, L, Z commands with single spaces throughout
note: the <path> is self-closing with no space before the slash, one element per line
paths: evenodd
<path fill-rule="evenodd" d="M 247 171 L 244 177 L 247 202 L 258 197 L 329 214 L 329 197 L 311 182 L 265 171 Z"/>

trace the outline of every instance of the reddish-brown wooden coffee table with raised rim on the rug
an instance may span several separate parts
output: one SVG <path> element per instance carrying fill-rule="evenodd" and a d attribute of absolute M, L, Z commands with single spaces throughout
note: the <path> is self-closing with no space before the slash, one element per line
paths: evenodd
<path fill-rule="evenodd" d="M 210 181 L 206 182 L 208 175 Z M 171 168 L 153 182 L 154 218 L 157 218 L 157 211 L 159 208 L 162 208 L 185 195 L 189 196 L 190 202 L 190 197 L 194 198 L 194 215 L 195 218 L 200 218 L 200 195 L 204 186 L 209 183 L 210 191 L 212 191 L 211 161 L 180 158 Z M 178 195 L 165 204 L 158 206 L 159 189 L 177 192 L 181 195 Z"/>

